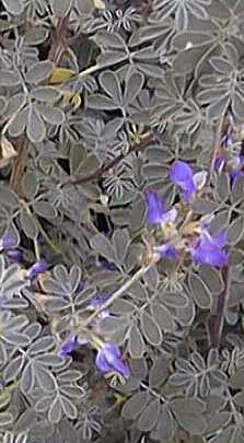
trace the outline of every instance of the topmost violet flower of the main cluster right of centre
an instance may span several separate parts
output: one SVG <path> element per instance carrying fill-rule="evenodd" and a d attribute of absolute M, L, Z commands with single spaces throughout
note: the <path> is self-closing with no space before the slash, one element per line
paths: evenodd
<path fill-rule="evenodd" d="M 196 193 L 191 167 L 185 162 L 174 162 L 170 171 L 171 180 L 183 190 L 183 199 L 189 202 Z"/>

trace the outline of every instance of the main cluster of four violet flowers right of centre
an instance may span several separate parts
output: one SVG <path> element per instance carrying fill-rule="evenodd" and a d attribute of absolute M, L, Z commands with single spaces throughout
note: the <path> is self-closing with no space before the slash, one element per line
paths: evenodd
<path fill-rule="evenodd" d="M 190 202 L 191 198 L 194 198 L 194 195 L 197 193 L 191 167 L 185 162 L 177 161 L 171 167 L 170 178 L 181 188 L 183 200 L 187 203 Z M 144 195 L 148 208 L 148 224 L 150 226 L 158 224 L 163 228 L 172 223 L 175 228 L 172 231 L 170 230 L 170 232 L 173 233 L 172 237 L 170 235 L 169 238 L 164 238 L 162 245 L 155 247 L 155 250 L 160 253 L 162 257 L 177 261 L 181 258 L 181 253 L 185 254 L 187 252 L 190 254 L 195 265 L 219 268 L 226 266 L 228 255 L 224 252 L 226 235 L 224 232 L 213 236 L 207 226 L 201 226 L 200 223 L 198 223 L 197 233 L 193 232 L 189 238 L 178 238 L 178 236 L 175 235 L 175 232 L 177 233 L 177 209 L 173 208 L 166 211 L 163 201 L 154 191 L 148 190 Z"/>

